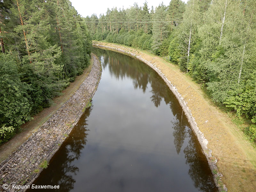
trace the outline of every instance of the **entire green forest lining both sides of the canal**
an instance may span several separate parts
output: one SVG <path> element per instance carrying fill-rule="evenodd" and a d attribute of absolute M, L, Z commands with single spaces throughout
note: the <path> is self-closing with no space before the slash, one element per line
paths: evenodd
<path fill-rule="evenodd" d="M 179 66 L 212 100 L 250 120 L 256 142 L 256 1 L 171 0 L 80 16 L 69 0 L 0 0 L 0 144 L 87 67 L 92 39 Z"/>

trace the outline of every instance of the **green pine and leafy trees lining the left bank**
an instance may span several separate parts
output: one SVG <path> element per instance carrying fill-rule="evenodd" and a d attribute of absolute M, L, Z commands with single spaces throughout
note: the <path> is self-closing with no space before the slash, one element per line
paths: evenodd
<path fill-rule="evenodd" d="M 69 0 L 0 0 L 0 143 L 83 73 L 91 36 Z"/>

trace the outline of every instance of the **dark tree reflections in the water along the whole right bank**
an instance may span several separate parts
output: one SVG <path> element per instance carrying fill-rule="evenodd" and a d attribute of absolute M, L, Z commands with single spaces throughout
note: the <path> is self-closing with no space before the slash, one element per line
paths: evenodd
<path fill-rule="evenodd" d="M 191 179 L 194 181 L 195 186 L 201 191 L 216 191 L 212 174 L 205 156 L 200 152 L 201 147 L 199 146 L 196 136 L 189 128 L 188 120 L 182 112 L 178 100 L 172 94 L 164 80 L 153 69 L 142 65 L 139 60 L 116 52 L 100 49 L 94 50 L 93 52 L 96 52 L 96 54 L 100 56 L 103 68 L 109 66 L 110 74 L 115 75 L 117 79 L 123 79 L 125 76 L 132 78 L 134 88 L 139 88 L 144 93 L 149 83 L 152 88 L 150 91 L 152 96 L 150 98 L 156 107 L 159 107 L 161 101 L 164 99 L 166 105 L 170 106 L 174 116 L 172 126 L 177 154 L 180 153 L 185 138 L 189 140 L 188 146 L 185 147 L 183 152 L 185 154 L 186 164 L 189 165 L 189 175 Z"/>

